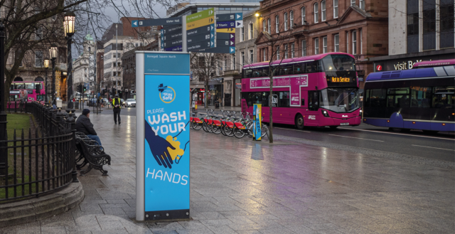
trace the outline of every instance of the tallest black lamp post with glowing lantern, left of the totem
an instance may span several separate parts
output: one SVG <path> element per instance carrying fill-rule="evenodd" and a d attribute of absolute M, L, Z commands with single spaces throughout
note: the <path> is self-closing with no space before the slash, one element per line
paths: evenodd
<path fill-rule="evenodd" d="M 71 97 L 73 96 L 73 61 L 72 56 L 71 56 L 71 41 L 73 40 L 73 35 L 74 35 L 74 24 L 75 24 L 75 19 L 76 15 L 72 11 L 68 11 L 65 14 L 65 19 L 63 20 L 63 28 L 65 31 L 65 38 L 68 42 L 67 48 L 68 48 L 68 80 L 67 80 L 67 85 L 68 85 L 68 92 L 67 92 L 67 97 L 68 97 L 68 105 L 67 109 L 72 110 L 73 109 L 73 100 Z"/>

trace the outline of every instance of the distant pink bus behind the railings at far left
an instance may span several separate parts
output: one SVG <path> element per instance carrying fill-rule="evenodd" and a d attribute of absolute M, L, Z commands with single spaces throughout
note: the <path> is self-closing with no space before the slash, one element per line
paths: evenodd
<path fill-rule="evenodd" d="M 45 90 L 43 81 L 14 81 L 9 88 L 8 108 L 15 108 L 21 102 L 38 101 L 44 103 Z"/>

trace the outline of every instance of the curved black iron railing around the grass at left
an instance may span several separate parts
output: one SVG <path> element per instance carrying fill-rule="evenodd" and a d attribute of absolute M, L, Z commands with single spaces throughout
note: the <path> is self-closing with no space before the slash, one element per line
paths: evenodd
<path fill-rule="evenodd" d="M 0 201 L 40 196 L 77 182 L 74 114 L 52 110 L 38 102 L 26 103 L 35 131 L 14 130 L 12 139 L 0 141 Z M 7 139 L 7 138 L 6 138 Z"/>

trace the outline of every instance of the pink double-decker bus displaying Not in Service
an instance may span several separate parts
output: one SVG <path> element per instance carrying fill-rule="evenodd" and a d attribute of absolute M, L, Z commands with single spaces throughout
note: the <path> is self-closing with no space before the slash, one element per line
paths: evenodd
<path fill-rule="evenodd" d="M 277 66 L 273 95 L 269 100 L 269 62 L 252 63 L 242 68 L 242 111 L 252 112 L 262 104 L 262 117 L 273 122 L 333 129 L 340 125 L 357 126 L 361 121 L 358 77 L 355 60 L 348 53 L 323 53 L 272 62 Z"/>

